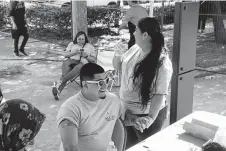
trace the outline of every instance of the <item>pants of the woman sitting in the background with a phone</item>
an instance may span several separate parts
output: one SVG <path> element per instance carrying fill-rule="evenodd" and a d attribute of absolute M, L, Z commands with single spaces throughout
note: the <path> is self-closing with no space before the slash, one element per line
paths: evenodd
<path fill-rule="evenodd" d="M 76 61 L 73 59 L 68 59 L 63 62 L 62 77 L 60 79 L 61 84 L 58 88 L 60 92 L 64 89 L 64 87 L 66 86 L 69 80 L 79 76 L 82 66 L 83 66 L 83 63 L 80 63 L 79 61 Z"/>

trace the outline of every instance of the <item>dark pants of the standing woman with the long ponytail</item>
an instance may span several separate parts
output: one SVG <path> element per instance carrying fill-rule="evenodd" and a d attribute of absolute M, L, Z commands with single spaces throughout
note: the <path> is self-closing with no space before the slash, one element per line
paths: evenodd
<path fill-rule="evenodd" d="M 142 117 L 147 115 L 137 115 L 137 116 Z M 159 111 L 159 114 L 154 123 L 148 129 L 145 129 L 143 133 L 141 133 L 133 126 L 126 126 L 127 131 L 126 149 L 159 132 L 162 129 L 166 117 L 167 117 L 167 106 L 165 106 L 163 109 Z"/>

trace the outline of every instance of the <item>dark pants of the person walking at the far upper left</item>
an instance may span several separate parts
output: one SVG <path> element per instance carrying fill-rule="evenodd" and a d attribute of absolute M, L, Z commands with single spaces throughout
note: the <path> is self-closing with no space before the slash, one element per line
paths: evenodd
<path fill-rule="evenodd" d="M 25 47 L 25 45 L 28 41 L 28 38 L 29 38 L 27 27 L 19 27 L 16 30 L 12 29 L 11 33 L 12 33 L 12 38 L 14 39 L 14 52 L 18 53 L 18 51 L 19 51 L 18 44 L 19 44 L 20 36 L 24 37 L 22 44 L 20 46 L 20 50 L 24 50 L 24 47 Z"/>

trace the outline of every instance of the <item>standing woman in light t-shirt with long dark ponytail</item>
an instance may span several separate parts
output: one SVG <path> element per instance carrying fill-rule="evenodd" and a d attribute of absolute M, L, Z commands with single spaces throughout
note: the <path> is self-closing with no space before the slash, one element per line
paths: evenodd
<path fill-rule="evenodd" d="M 115 69 L 122 71 L 119 96 L 125 109 L 127 148 L 161 130 L 172 76 L 158 21 L 142 18 L 134 36 L 136 44 L 113 58 Z"/>

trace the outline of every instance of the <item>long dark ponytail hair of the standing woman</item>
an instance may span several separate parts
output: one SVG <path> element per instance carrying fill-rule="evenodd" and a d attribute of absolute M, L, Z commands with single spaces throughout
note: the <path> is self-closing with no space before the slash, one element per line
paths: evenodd
<path fill-rule="evenodd" d="M 154 18 L 142 18 L 138 22 L 138 28 L 141 33 L 148 33 L 152 45 L 147 56 L 135 65 L 133 73 L 133 83 L 139 91 L 143 107 L 146 107 L 151 99 L 151 92 L 156 90 L 155 76 L 158 74 L 158 68 L 161 65 L 159 57 L 164 47 L 164 37 L 160 32 L 158 21 Z"/>

